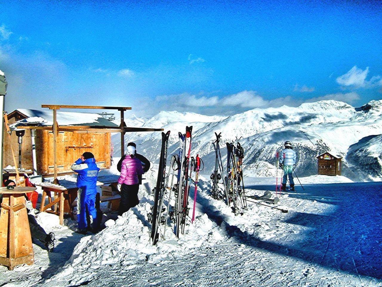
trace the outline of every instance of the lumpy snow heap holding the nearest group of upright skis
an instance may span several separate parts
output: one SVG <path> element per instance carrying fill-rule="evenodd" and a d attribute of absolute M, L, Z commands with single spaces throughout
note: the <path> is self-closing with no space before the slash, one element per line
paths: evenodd
<path fill-rule="evenodd" d="M 156 175 L 145 174 L 147 178 L 153 179 Z M 204 177 L 201 177 L 204 179 Z M 200 184 L 206 188 L 202 180 Z M 150 185 L 153 185 L 151 182 Z M 140 190 L 142 192 L 142 190 Z M 204 194 L 205 200 L 209 200 L 209 195 Z M 191 225 L 189 218 L 185 227 L 185 233 L 180 235 L 180 239 L 175 237 L 171 227 L 167 226 L 165 240 L 160 239 L 157 245 L 150 243 L 151 224 L 147 221 L 147 213 L 151 212 L 152 198 L 146 195 L 141 198 L 140 204 L 113 221 L 109 219 L 105 222 L 106 228 L 95 235 L 83 237 L 74 248 L 73 254 L 66 265 L 55 276 L 63 281 L 69 281 L 71 285 L 79 285 L 92 280 L 97 275 L 97 270 L 101 267 L 118 268 L 118 266 L 130 266 L 134 268 L 139 261 L 158 263 L 163 260 L 176 258 L 178 254 L 188 254 L 194 252 L 194 248 L 201 245 L 215 245 L 217 242 L 226 239 L 225 229 L 221 229 L 217 223 L 211 221 L 205 213 L 196 212 L 196 220 Z M 191 202 L 191 200 L 190 200 Z M 222 202 L 218 202 L 218 206 Z M 217 216 L 226 216 L 227 222 L 232 221 L 231 210 L 227 206 L 208 207 L 209 213 L 216 213 Z M 227 215 L 223 215 L 225 210 Z M 190 211 L 191 214 L 192 211 Z M 233 221 L 232 221 L 233 224 Z M 163 226 L 162 226 L 163 232 Z M 46 283 L 53 282 L 48 279 Z"/>

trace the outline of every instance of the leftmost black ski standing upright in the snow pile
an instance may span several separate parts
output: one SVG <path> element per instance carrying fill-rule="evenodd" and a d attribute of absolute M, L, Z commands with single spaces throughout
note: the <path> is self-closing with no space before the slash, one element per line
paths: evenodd
<path fill-rule="evenodd" d="M 167 160 L 167 144 L 168 137 L 170 136 L 170 131 L 164 133 L 162 132 L 162 148 L 160 150 L 159 158 L 159 168 L 158 168 L 158 177 L 157 185 L 154 191 L 154 205 L 152 206 L 152 213 L 147 214 L 149 221 L 151 221 L 151 242 L 152 245 L 155 245 L 159 239 L 159 221 L 160 214 L 163 212 L 162 209 L 162 200 L 165 193 L 165 173 L 166 173 L 166 160 Z"/>

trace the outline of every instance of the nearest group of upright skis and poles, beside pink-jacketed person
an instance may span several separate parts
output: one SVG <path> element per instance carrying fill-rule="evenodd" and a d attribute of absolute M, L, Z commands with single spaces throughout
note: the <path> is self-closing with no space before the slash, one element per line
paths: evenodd
<path fill-rule="evenodd" d="M 160 152 L 160 160 L 159 160 L 159 170 L 158 170 L 158 178 L 157 185 L 154 191 L 154 205 L 152 206 L 152 213 L 148 214 L 148 219 L 151 221 L 152 229 L 151 229 L 151 241 L 152 244 L 155 245 L 159 240 L 159 228 L 161 224 L 164 224 L 163 228 L 163 238 L 166 229 L 166 221 L 167 216 L 170 214 L 170 218 L 174 222 L 174 233 L 176 237 L 179 238 L 179 234 L 183 234 L 186 225 L 186 216 L 189 212 L 188 207 L 188 197 L 189 197 L 189 189 L 191 182 L 192 171 L 196 172 L 196 180 L 195 180 L 195 190 L 194 190 L 194 210 L 192 222 L 195 218 L 195 206 L 196 206 L 196 190 L 197 190 L 197 177 L 200 169 L 200 158 L 199 155 L 196 155 L 196 160 L 193 157 L 190 157 L 191 153 L 191 134 L 192 134 L 192 126 L 186 127 L 186 133 L 179 135 L 179 144 L 180 147 L 178 149 L 177 155 L 172 155 L 170 169 L 166 176 L 166 160 L 167 160 L 167 145 L 168 145 L 168 137 L 170 135 L 170 131 L 167 133 L 162 132 L 162 148 Z M 190 168 L 191 164 L 191 168 Z M 176 174 L 176 183 L 174 184 Z M 169 179 L 171 178 L 171 183 L 169 183 Z M 168 195 L 168 204 L 167 207 L 164 205 L 164 198 L 167 191 Z M 175 206 L 174 208 L 170 206 L 171 193 L 174 192 L 175 195 Z M 170 211 L 170 208 L 172 211 Z M 165 210 L 167 209 L 167 214 L 164 215 Z"/>

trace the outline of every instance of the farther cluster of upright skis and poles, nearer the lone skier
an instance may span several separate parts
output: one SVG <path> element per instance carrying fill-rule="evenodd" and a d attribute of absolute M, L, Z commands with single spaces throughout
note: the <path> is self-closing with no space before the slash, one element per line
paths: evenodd
<path fill-rule="evenodd" d="M 224 176 L 222 155 L 220 153 L 220 137 L 221 132 L 216 135 L 216 140 L 212 144 L 215 149 L 215 169 L 211 174 L 212 190 L 211 196 L 214 199 L 225 199 L 225 202 L 230 206 L 233 203 L 232 209 L 235 215 L 242 214 L 241 210 L 246 209 L 246 197 L 243 183 L 243 158 L 244 149 L 241 147 L 237 139 L 236 147 L 233 142 L 227 142 L 227 176 Z M 231 167 L 232 163 L 232 167 Z M 219 181 L 223 177 L 223 191 L 220 193 Z"/>

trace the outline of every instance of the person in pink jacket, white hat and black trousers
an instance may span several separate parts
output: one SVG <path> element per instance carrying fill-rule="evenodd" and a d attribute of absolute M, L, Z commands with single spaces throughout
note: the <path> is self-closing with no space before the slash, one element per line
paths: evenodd
<path fill-rule="evenodd" d="M 117 186 L 121 192 L 121 202 L 118 210 L 118 215 L 120 216 L 139 203 L 138 177 L 143 174 L 143 168 L 141 161 L 134 156 L 134 152 L 135 147 L 128 146 L 126 157 L 121 164 L 121 175 Z"/>

